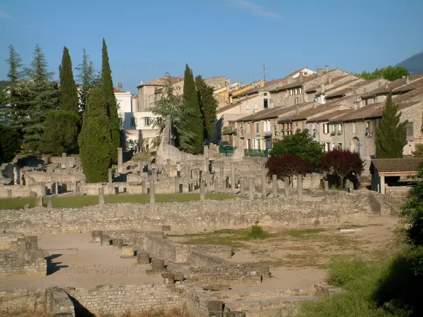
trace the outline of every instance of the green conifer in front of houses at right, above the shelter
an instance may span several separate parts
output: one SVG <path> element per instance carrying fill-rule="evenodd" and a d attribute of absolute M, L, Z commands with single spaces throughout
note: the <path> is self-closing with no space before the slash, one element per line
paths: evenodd
<path fill-rule="evenodd" d="M 401 113 L 392 101 L 392 92 L 386 98 L 386 104 L 379 125 L 376 127 L 376 158 L 393 159 L 403 157 L 403 148 L 407 144 L 407 120 L 400 123 Z"/>

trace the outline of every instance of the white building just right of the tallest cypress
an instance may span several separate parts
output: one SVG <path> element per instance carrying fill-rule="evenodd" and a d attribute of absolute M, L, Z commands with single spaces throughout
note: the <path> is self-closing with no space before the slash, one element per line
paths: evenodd
<path fill-rule="evenodd" d="M 154 114 L 150 111 L 137 111 L 136 105 L 130 92 L 122 92 L 114 89 L 114 94 L 118 103 L 118 118 L 121 130 L 125 134 L 125 146 L 129 146 L 130 140 L 133 142 L 143 142 L 145 151 L 154 149 L 154 138 L 159 134 L 159 129 L 153 126 Z"/>

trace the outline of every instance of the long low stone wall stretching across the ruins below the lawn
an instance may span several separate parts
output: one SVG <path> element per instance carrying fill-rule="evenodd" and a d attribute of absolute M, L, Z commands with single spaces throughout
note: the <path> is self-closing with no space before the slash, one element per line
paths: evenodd
<path fill-rule="evenodd" d="M 90 232 L 92 230 L 161 230 L 162 225 L 208 230 L 275 223 L 336 223 L 367 213 L 384 214 L 374 193 L 339 192 L 321 201 L 296 199 L 227 199 L 157 204 L 104 204 L 75 209 L 0 210 L 0 230 L 7 233 Z M 376 197 L 376 198 L 375 198 Z M 391 211 L 388 211 L 390 214 Z"/>

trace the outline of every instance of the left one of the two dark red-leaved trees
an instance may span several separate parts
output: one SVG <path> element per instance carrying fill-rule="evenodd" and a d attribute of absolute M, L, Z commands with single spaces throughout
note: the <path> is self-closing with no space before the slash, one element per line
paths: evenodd
<path fill-rule="evenodd" d="M 313 166 L 308 161 L 300 159 L 296 155 L 285 154 L 283 156 L 270 156 L 266 161 L 267 176 L 271 179 L 276 175 L 279 180 L 288 178 L 293 182 L 294 175 L 312 173 Z"/>

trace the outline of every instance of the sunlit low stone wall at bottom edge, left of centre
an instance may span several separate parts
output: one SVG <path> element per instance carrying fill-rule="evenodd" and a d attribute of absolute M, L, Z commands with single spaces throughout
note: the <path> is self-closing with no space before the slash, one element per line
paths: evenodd
<path fill-rule="evenodd" d="M 127 311 L 166 311 L 183 309 L 185 305 L 185 293 L 172 285 L 100 285 L 94 289 L 68 288 L 65 291 L 94 314 L 102 312 L 120 316 Z M 75 313 L 78 316 L 82 311 L 75 309 Z"/>

